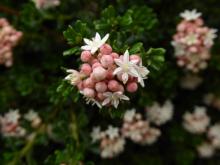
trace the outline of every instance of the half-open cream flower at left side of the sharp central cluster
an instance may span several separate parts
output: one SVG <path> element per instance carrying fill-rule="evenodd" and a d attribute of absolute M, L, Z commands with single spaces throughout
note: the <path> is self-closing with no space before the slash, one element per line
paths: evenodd
<path fill-rule="evenodd" d="M 65 80 L 70 81 L 72 85 L 77 85 L 85 77 L 84 74 L 74 69 L 68 69 L 66 72 L 70 74 L 65 77 Z"/>

